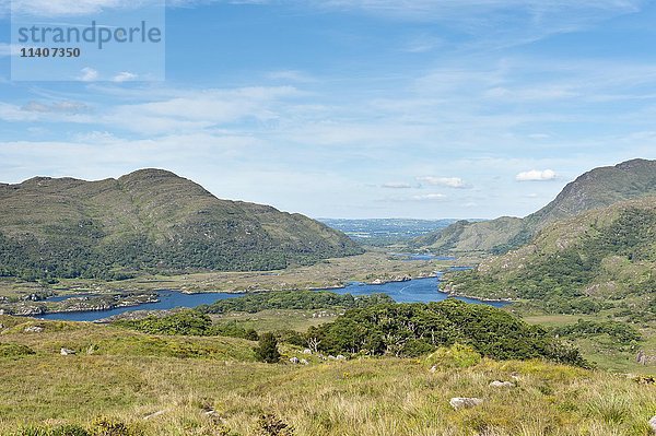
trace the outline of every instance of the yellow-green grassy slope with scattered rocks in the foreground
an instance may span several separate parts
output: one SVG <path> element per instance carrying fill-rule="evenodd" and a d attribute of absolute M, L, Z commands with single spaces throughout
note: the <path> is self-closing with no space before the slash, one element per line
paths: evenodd
<path fill-rule="evenodd" d="M 255 343 L 243 340 L 0 322 L 0 343 L 36 353 L 3 355 L 8 346 L 0 347 L 0 435 L 26 425 L 93 427 L 101 416 L 144 435 L 270 435 L 258 421 L 272 414 L 269 421 L 293 426 L 297 436 L 647 436 L 656 414 L 654 385 L 542 362 L 445 363 L 434 373 L 422 361 L 397 358 L 312 356 L 307 366 L 266 365 L 254 362 Z M 28 327 L 43 330 L 25 332 Z M 61 346 L 78 354 L 61 356 Z M 291 346 L 282 351 L 285 360 L 304 356 Z M 513 376 L 515 388 L 488 386 Z M 452 397 L 484 402 L 455 411 Z"/>

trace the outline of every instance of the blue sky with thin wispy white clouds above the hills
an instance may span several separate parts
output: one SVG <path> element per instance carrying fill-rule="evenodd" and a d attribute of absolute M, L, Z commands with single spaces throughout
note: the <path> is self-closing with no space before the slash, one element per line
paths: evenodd
<path fill-rule="evenodd" d="M 15 1 L 51 20 L 134 3 Z M 313 217 L 488 219 L 656 158 L 656 2 L 175 0 L 152 82 L 12 81 L 9 11 L 0 182 L 157 167 Z"/>

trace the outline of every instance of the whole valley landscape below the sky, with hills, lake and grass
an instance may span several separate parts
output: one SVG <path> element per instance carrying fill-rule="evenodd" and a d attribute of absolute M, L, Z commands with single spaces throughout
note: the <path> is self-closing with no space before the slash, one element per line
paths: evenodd
<path fill-rule="evenodd" d="M 85 217 L 54 205 L 0 226 L 0 382 L 16 393 L 0 400 L 0 434 L 648 435 L 656 202 L 642 187 L 656 170 L 645 168 L 656 169 L 593 170 L 523 220 L 325 220 L 336 228 L 223 203 L 160 170 L 103 181 L 104 193 L 28 180 L 11 192 L 45 190 L 45 204 L 66 199 Z M 90 212 L 126 180 L 121 217 Z M 134 200 L 159 184 L 171 184 L 166 197 Z M 587 199 L 600 187 L 620 193 Z M 5 198 L 4 216 L 26 208 L 23 195 Z M 259 212 L 242 228 L 234 210 L 207 208 Z M 161 216 L 168 224 L 149 221 Z M 91 234 L 57 236 L 86 217 Z M 116 250 L 139 234 L 144 245 Z M 89 256 L 98 263 L 81 267 Z M 460 397 L 482 405 L 458 409 Z"/>

